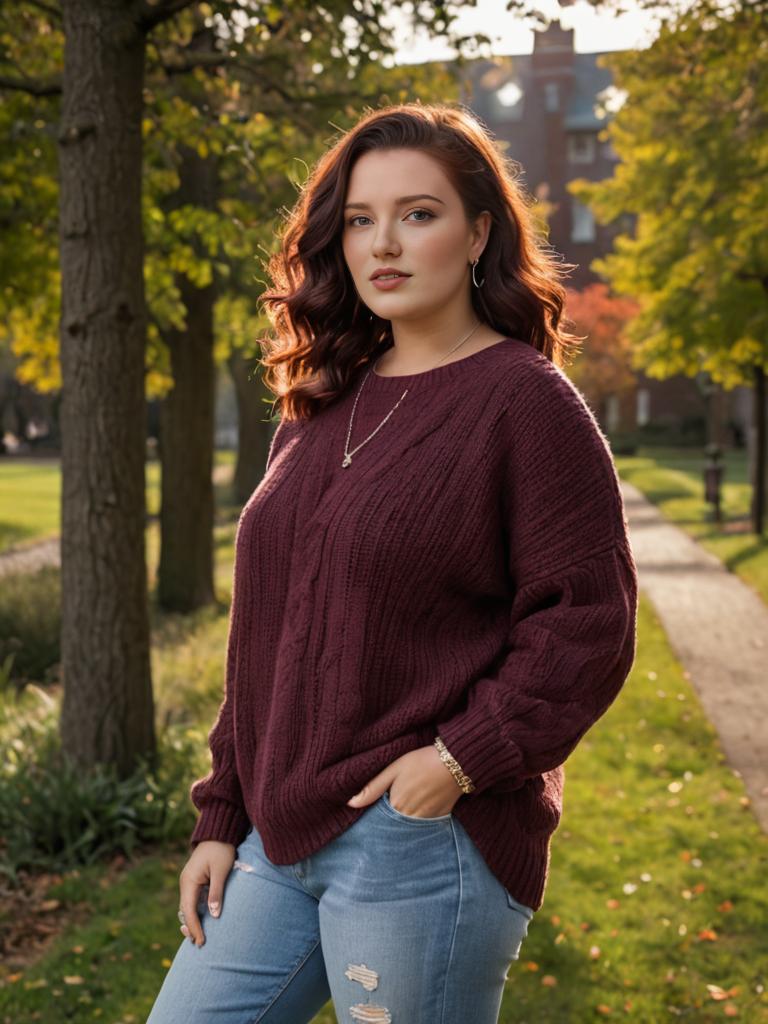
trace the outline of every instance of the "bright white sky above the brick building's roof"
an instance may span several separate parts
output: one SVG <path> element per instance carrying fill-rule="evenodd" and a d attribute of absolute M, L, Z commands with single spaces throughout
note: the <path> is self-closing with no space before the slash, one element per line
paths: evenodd
<path fill-rule="evenodd" d="M 564 29 L 575 30 L 573 41 L 579 53 L 643 48 L 655 35 L 654 18 L 637 7 L 634 0 L 624 0 L 628 13 L 621 15 L 598 14 L 587 0 L 575 0 L 567 6 L 561 6 L 558 0 L 538 0 L 537 5 L 548 18 L 559 17 Z M 426 34 L 421 38 L 413 37 L 406 31 L 403 23 L 404 18 L 398 18 L 398 63 L 420 63 L 456 56 L 444 42 L 430 41 Z M 455 27 L 463 33 L 484 32 L 494 41 L 494 53 L 530 53 L 534 49 L 534 24 L 531 19 L 522 20 L 519 14 L 506 10 L 505 0 L 477 0 L 475 7 L 461 12 Z"/>

